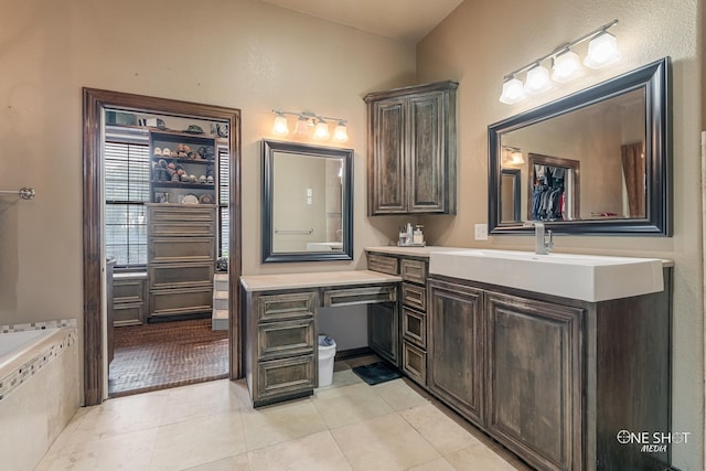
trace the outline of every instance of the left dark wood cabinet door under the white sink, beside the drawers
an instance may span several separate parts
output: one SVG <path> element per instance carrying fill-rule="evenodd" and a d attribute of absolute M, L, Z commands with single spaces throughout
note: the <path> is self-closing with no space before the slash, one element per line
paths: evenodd
<path fill-rule="evenodd" d="M 428 386 L 471 421 L 483 425 L 483 292 L 429 280 Z"/>

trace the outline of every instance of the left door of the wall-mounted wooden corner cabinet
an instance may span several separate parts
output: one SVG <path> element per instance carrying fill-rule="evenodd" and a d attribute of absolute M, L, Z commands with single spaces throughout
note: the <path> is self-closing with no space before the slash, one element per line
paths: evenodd
<path fill-rule="evenodd" d="M 368 165 L 370 214 L 405 213 L 405 98 L 389 98 L 372 107 L 368 130 L 374 162 Z"/>

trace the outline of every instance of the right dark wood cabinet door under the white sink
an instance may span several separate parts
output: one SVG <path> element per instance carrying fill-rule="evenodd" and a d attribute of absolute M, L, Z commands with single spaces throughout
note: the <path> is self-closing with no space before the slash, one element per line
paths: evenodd
<path fill-rule="evenodd" d="M 486 292 L 488 431 L 543 470 L 579 470 L 582 310 Z"/>

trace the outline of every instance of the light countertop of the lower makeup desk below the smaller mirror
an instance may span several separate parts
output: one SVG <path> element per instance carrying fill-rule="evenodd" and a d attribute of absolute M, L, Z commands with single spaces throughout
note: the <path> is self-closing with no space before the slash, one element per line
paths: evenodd
<path fill-rule="evenodd" d="M 246 291 L 272 289 L 319 288 L 322 286 L 376 285 L 402 281 L 400 277 L 371 270 L 314 271 L 309 274 L 276 274 L 242 276 Z"/>

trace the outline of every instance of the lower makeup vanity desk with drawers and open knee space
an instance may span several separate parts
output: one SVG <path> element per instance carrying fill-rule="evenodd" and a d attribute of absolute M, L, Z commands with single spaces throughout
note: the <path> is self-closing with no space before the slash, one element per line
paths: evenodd
<path fill-rule="evenodd" d="M 368 270 L 240 277 L 244 365 L 253 405 L 313 394 L 319 308 L 375 304 L 386 319 L 396 319 L 399 281 Z"/>

